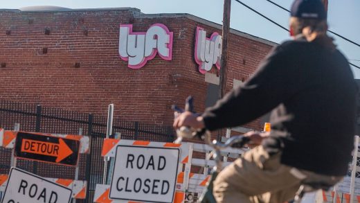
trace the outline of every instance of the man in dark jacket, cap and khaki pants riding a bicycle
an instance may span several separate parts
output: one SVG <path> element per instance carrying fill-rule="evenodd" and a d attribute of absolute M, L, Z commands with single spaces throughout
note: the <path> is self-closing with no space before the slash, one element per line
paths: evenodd
<path fill-rule="evenodd" d="M 320 0 L 296 0 L 294 40 L 273 48 L 242 87 L 198 116 L 180 114 L 174 127 L 217 130 L 271 111 L 269 134 L 249 133 L 258 145 L 219 173 L 217 202 L 286 202 L 301 184 L 334 185 L 348 172 L 357 88 L 348 61 L 326 35 Z"/>

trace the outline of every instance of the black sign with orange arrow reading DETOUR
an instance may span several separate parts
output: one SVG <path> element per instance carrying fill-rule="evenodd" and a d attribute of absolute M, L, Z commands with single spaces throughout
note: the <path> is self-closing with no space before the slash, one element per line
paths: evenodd
<path fill-rule="evenodd" d="M 15 157 L 53 164 L 76 166 L 80 141 L 42 134 L 18 132 Z"/>

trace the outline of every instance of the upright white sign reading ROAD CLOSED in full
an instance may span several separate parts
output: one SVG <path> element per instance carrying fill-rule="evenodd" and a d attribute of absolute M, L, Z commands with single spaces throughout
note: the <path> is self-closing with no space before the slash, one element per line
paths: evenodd
<path fill-rule="evenodd" d="M 109 198 L 171 203 L 178 166 L 177 148 L 118 145 Z"/>

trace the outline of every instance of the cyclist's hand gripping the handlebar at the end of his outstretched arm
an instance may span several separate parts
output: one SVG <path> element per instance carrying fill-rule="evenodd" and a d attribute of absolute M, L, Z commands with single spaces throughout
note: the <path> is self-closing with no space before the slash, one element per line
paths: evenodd
<path fill-rule="evenodd" d="M 179 114 L 174 120 L 172 126 L 177 129 L 182 126 L 192 127 L 195 129 L 202 129 L 205 127 L 203 117 L 198 116 L 197 114 L 192 114 L 191 112 L 183 112 Z"/>

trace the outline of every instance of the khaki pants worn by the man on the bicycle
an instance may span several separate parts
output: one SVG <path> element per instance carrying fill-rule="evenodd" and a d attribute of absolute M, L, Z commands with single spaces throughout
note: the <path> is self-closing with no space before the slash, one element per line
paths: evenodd
<path fill-rule="evenodd" d="M 294 199 L 303 179 L 332 185 L 342 179 L 296 170 L 280 164 L 280 156 L 280 152 L 269 156 L 261 145 L 244 153 L 217 176 L 213 191 L 217 202 L 287 202 Z"/>

